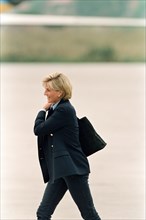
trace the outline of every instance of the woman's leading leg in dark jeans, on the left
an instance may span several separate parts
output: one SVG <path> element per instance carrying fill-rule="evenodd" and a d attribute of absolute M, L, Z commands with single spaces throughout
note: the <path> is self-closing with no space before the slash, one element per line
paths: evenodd
<path fill-rule="evenodd" d="M 56 206 L 67 191 L 66 183 L 63 179 L 58 179 L 54 183 L 48 183 L 43 199 L 37 210 L 38 220 L 50 220 Z"/>

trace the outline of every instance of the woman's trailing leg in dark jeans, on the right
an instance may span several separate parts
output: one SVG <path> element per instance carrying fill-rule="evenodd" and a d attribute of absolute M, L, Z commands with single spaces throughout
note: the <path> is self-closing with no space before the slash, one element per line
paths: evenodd
<path fill-rule="evenodd" d="M 67 187 L 77 204 L 84 220 L 101 220 L 91 196 L 88 175 L 74 175 L 64 177 Z"/>

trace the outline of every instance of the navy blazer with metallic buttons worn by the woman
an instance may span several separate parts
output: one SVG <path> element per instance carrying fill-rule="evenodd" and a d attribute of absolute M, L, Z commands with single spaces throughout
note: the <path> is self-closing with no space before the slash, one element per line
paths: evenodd
<path fill-rule="evenodd" d="M 76 112 L 69 100 L 61 100 L 47 119 L 46 112 L 40 111 L 34 133 L 38 136 L 39 161 L 45 183 L 90 172 L 79 142 Z"/>

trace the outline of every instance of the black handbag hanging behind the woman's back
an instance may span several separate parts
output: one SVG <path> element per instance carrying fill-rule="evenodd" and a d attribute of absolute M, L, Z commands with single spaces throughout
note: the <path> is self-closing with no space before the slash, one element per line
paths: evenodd
<path fill-rule="evenodd" d="M 90 156 L 106 146 L 107 143 L 97 134 L 87 117 L 78 118 L 78 124 L 79 140 L 86 156 Z"/>

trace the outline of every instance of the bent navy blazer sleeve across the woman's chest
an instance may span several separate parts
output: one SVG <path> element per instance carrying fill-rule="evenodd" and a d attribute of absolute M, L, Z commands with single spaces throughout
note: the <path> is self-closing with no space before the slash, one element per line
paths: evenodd
<path fill-rule="evenodd" d="M 46 113 L 40 111 L 36 117 L 34 125 L 34 134 L 37 136 L 48 135 L 54 131 L 65 127 L 69 123 L 69 111 L 66 108 L 59 107 L 53 114 L 45 120 Z"/>

